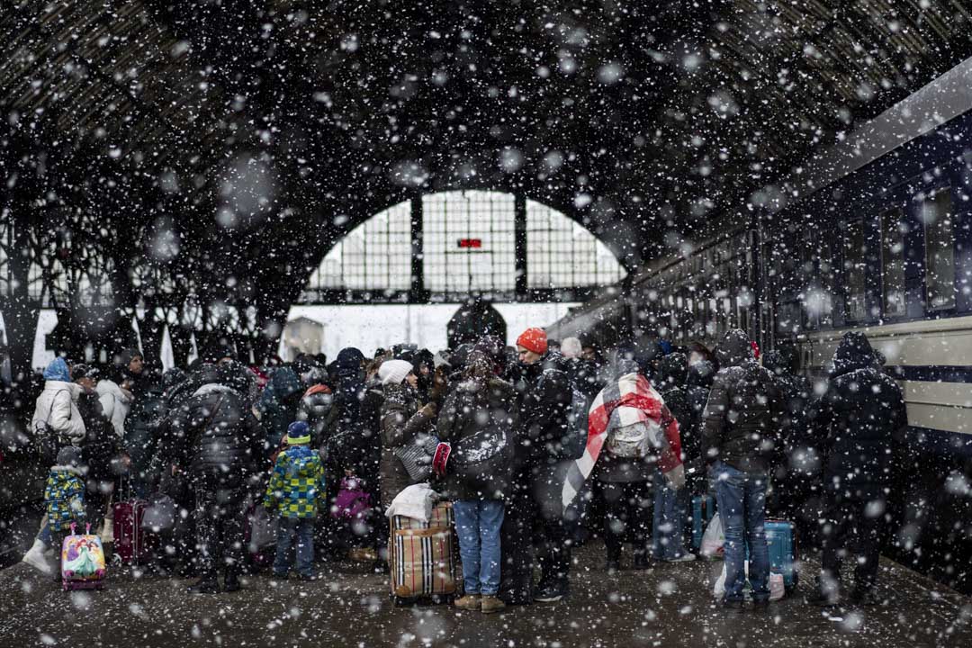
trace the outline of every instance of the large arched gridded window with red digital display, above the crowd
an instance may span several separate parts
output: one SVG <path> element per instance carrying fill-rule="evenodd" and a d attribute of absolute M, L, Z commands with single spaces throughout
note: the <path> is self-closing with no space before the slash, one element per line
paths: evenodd
<path fill-rule="evenodd" d="M 626 275 L 604 243 L 557 210 L 500 191 L 442 191 L 401 202 L 349 232 L 311 275 L 304 300 L 321 290 L 409 290 L 415 213 L 421 214 L 425 290 L 512 292 L 518 210 L 528 289 L 605 286 Z"/>

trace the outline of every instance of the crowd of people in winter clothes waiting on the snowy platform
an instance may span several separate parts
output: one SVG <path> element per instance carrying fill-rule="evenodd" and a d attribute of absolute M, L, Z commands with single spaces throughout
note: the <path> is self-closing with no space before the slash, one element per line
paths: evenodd
<path fill-rule="evenodd" d="M 608 572 L 628 543 L 636 569 L 695 560 L 690 499 L 712 493 L 725 534 L 721 603 L 742 606 L 747 578 L 763 606 L 767 508 L 794 517 L 814 491 L 823 569 L 809 599 L 840 600 L 841 559 L 856 549 L 851 598 L 866 603 L 890 447 L 907 426 L 902 394 L 861 333 L 845 335 L 825 385 L 796 370 L 784 351 L 760 357 L 739 329 L 714 353 L 638 340 L 601 356 L 541 328 L 515 347 L 484 336 L 436 354 L 346 348 L 330 363 L 301 355 L 251 367 L 218 350 L 157 377 L 134 350 L 100 371 L 55 358 L 32 421 L 52 465 L 47 516 L 24 561 L 50 570 L 46 555 L 72 522 L 110 544 L 113 502 L 164 494 L 185 515 L 157 529 L 154 564 L 197 576 L 191 593 L 238 590 L 241 572 L 260 564 L 288 578 L 292 550 L 302 579 L 352 551 L 385 572 L 385 510 L 423 480 L 453 502 L 465 591 L 456 605 L 495 612 L 568 597 L 573 548 L 591 535 L 604 539 Z M 409 447 L 431 454 L 473 437 L 502 446 L 476 469 L 416 478 L 402 459 Z M 550 468 L 574 460 L 593 467 L 562 509 Z M 260 506 L 277 519 L 272 560 L 250 537 Z"/>

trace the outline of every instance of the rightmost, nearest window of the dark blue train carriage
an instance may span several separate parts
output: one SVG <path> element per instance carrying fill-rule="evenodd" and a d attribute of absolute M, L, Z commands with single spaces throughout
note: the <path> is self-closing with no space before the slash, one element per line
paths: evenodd
<path fill-rule="evenodd" d="M 921 201 L 924 226 L 924 288 L 928 308 L 955 306 L 955 232 L 952 228 L 952 192 L 938 191 Z"/>

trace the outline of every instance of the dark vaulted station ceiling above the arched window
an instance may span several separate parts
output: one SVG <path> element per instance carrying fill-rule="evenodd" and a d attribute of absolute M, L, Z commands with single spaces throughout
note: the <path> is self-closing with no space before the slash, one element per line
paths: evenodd
<path fill-rule="evenodd" d="M 946 0 L 14 4 L 8 187 L 281 300 L 442 188 L 525 192 L 637 265 L 972 54 Z"/>

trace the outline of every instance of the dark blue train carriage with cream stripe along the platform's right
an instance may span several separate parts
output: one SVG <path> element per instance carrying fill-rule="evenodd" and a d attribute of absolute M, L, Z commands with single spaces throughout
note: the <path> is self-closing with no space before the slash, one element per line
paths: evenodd
<path fill-rule="evenodd" d="M 643 333 L 712 347 L 738 326 L 795 347 L 818 379 L 844 333 L 865 332 L 908 407 L 894 549 L 966 590 L 952 563 L 972 556 L 970 80 L 972 59 L 820 153 L 744 226 L 551 326 L 605 348 Z"/>

